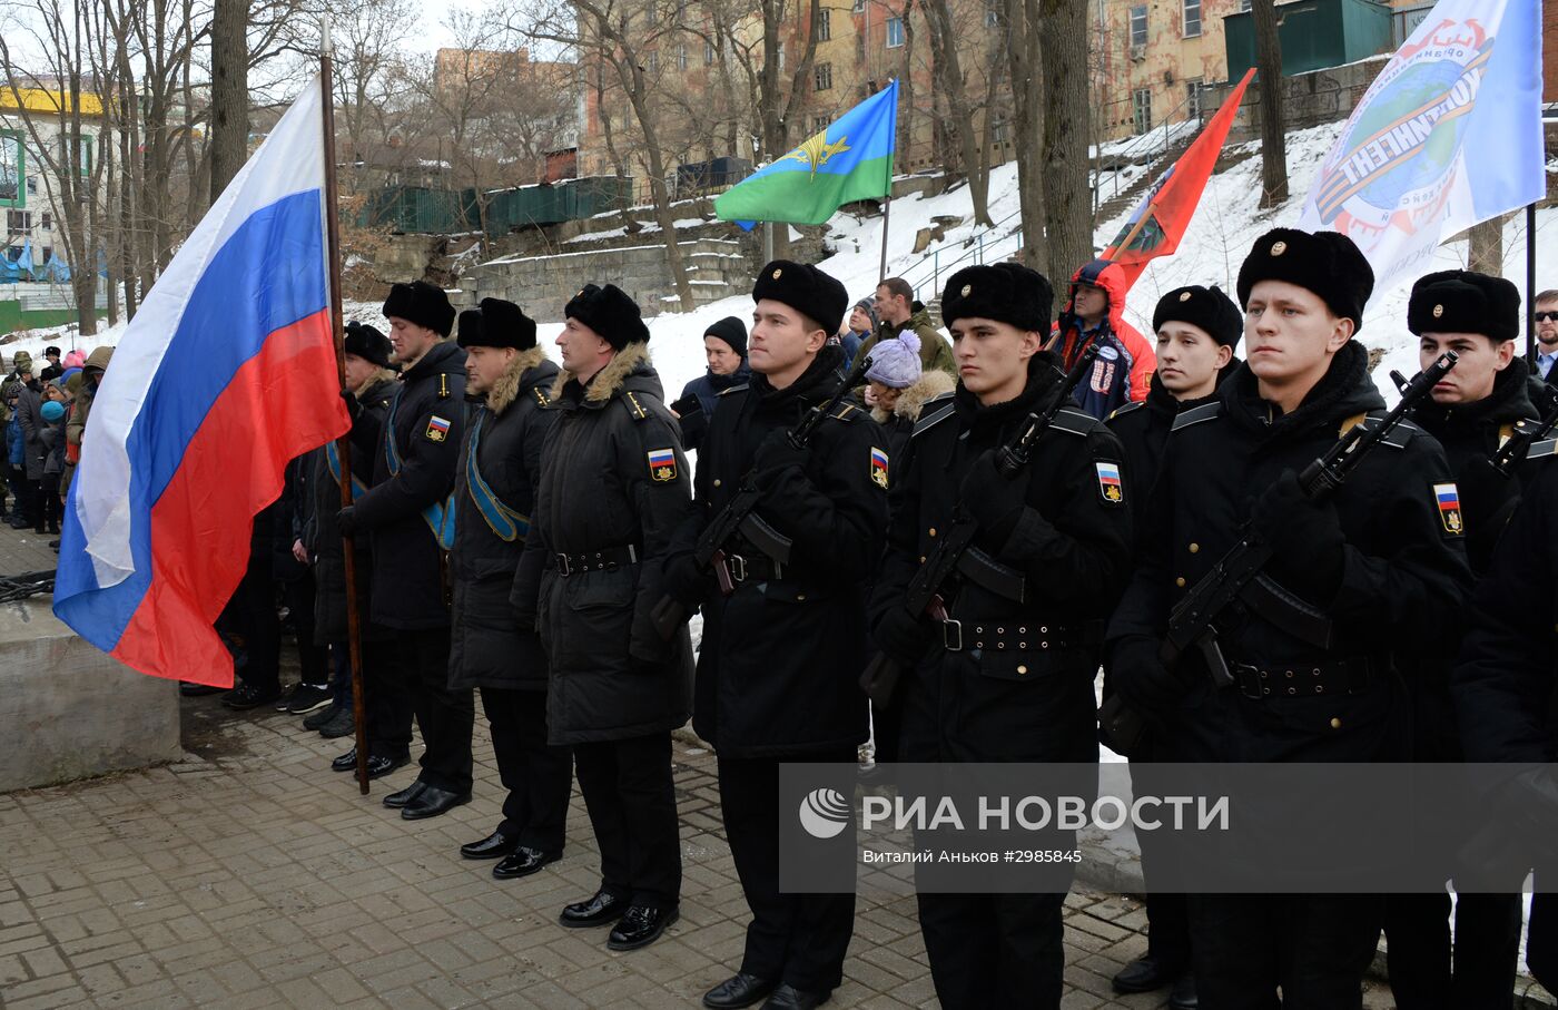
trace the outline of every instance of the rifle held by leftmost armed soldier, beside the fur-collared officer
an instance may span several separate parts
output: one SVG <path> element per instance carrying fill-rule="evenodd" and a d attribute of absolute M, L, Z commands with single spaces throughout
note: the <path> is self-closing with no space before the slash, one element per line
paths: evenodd
<path fill-rule="evenodd" d="M 871 368 L 871 355 L 862 354 L 854 368 L 849 369 L 849 376 L 834 390 L 834 394 L 823 402 L 813 404 L 799 424 L 785 432 L 785 441 L 790 443 L 791 449 L 805 449 L 812 443 L 816 429 L 838 408 L 838 404 L 843 402 L 849 391 L 865 379 L 868 368 Z M 709 521 L 703 535 L 698 536 L 698 546 L 693 550 L 693 561 L 698 564 L 698 570 L 714 570 L 714 580 L 720 584 L 721 595 L 735 592 L 735 580 L 746 577 L 743 570 L 745 563 L 740 558 L 731 556 L 728 550 L 737 535 L 746 538 L 749 544 L 773 558 L 777 564 L 790 564 L 790 538 L 763 522 L 763 517 L 754 511 L 762 497 L 754 482 L 756 474 L 757 471 L 751 469 L 742 477 L 735 494 Z M 731 572 L 732 561 L 737 567 L 734 575 Z M 676 627 L 687 619 L 687 608 L 667 595 L 650 611 L 650 619 L 654 622 L 654 630 L 661 633 L 661 637 L 670 641 L 671 634 L 676 633 Z"/>

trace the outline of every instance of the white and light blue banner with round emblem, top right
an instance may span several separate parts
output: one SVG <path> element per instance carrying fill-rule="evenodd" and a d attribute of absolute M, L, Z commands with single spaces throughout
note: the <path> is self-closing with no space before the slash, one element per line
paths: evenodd
<path fill-rule="evenodd" d="M 1541 0 L 1441 0 L 1352 111 L 1298 226 L 1352 238 L 1385 291 L 1541 200 Z"/>

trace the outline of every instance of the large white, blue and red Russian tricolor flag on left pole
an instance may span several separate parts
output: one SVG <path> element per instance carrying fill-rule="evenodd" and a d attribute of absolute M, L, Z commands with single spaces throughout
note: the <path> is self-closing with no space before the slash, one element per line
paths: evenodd
<path fill-rule="evenodd" d="M 129 323 L 81 440 L 55 614 L 143 673 L 232 683 L 212 630 L 288 460 L 340 438 L 318 79 Z"/>

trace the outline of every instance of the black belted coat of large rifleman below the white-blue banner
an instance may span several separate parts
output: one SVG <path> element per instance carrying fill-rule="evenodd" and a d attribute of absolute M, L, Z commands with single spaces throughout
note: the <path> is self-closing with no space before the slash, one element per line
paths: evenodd
<path fill-rule="evenodd" d="M 1384 401 L 1355 341 L 1290 415 L 1260 399 L 1242 366 L 1217 404 L 1181 413 L 1147 505 L 1142 555 L 1109 628 L 1109 670 L 1130 697 L 1133 676 L 1153 676 L 1168 613 L 1237 542 L 1254 500 L 1284 471 L 1302 472 L 1352 424 L 1373 422 Z M 1317 647 L 1259 616 L 1220 628 L 1240 686 L 1215 690 L 1200 655 L 1181 658 L 1186 686 L 1164 712 L 1178 761 L 1402 761 L 1408 750 L 1407 681 L 1401 641 L 1457 620 L 1469 586 L 1463 524 L 1440 507 L 1454 479 L 1444 450 L 1404 422 L 1332 496 L 1345 546 L 1340 583 L 1317 591 L 1304 570 L 1268 572 L 1334 622 L 1335 647 Z M 1320 669 L 1331 690 L 1288 684 L 1285 670 Z M 1262 678 L 1260 673 L 1267 676 Z M 1276 683 L 1271 678 L 1278 678 Z M 1274 684 L 1267 687 L 1267 684 Z M 1288 690 L 1292 687 L 1292 690 Z"/>

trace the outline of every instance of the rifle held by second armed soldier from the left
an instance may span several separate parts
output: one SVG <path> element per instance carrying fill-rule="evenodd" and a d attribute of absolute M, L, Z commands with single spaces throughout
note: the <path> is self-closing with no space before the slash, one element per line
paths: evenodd
<path fill-rule="evenodd" d="M 1030 413 L 1011 441 L 997 450 L 996 469 L 1000 471 L 1002 477 L 1013 480 L 1027 469 L 1028 460 L 1033 457 L 1033 446 L 1050 429 L 1055 415 L 1073 405 L 1072 391 L 1092 366 L 1095 357 L 1098 357 L 1097 344 L 1083 351 L 1077 363 L 1066 373 L 1066 379 L 1061 382 L 1055 399 L 1050 401 L 1042 413 Z M 949 594 L 946 589 L 953 575 L 961 575 L 1008 600 L 1024 602 L 1025 580 L 1022 575 L 975 547 L 974 538 L 977 533 L 978 524 L 960 500 L 952 510 L 952 527 L 946 531 L 946 536 L 936 541 L 936 549 L 930 552 L 930 556 L 925 558 L 919 570 L 915 572 L 915 578 L 908 583 L 908 589 L 904 594 L 904 605 L 908 608 L 908 613 L 941 622 L 943 628 L 958 627 L 947 623 L 946 597 Z M 961 636 L 961 628 L 958 628 L 958 634 Z M 897 687 L 899 673 L 897 662 L 888 658 L 887 653 L 877 653 L 866 666 L 865 673 L 860 675 L 860 689 L 877 705 L 887 705 Z"/>

